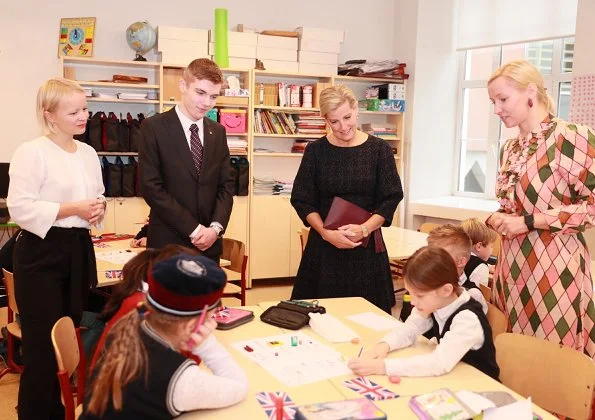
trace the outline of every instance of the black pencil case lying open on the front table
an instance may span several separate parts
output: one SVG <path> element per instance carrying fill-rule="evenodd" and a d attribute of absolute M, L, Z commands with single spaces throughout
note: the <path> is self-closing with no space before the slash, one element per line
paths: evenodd
<path fill-rule="evenodd" d="M 305 301 L 282 301 L 277 306 L 271 306 L 260 315 L 260 320 L 276 327 L 288 330 L 299 330 L 310 322 L 311 312 L 324 314 L 326 309 L 319 306 L 317 301 L 313 303 Z"/>

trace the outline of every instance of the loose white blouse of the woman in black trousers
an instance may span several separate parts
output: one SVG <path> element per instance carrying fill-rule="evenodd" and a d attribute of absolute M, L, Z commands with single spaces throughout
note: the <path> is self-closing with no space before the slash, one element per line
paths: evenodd
<path fill-rule="evenodd" d="M 69 153 L 46 136 L 23 143 L 10 161 L 6 204 L 21 228 L 45 238 L 52 226 L 90 228 L 78 216 L 56 220 L 60 204 L 102 197 L 105 191 L 95 150 L 75 140 Z"/>

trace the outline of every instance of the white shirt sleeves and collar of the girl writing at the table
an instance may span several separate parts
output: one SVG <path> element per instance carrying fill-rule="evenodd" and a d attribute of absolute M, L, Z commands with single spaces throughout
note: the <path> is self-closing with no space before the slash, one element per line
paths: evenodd
<path fill-rule="evenodd" d="M 464 290 L 450 305 L 434 312 L 438 329 L 444 329 L 448 318 L 471 296 Z M 432 328 L 432 317 L 424 318 L 415 307 L 409 318 L 382 339 L 390 350 L 409 347 L 417 338 Z M 452 320 L 448 332 L 429 354 L 402 359 L 385 359 L 384 366 L 389 376 L 440 376 L 450 372 L 469 350 L 478 350 L 485 338 L 477 315 L 469 310 L 459 312 Z"/>

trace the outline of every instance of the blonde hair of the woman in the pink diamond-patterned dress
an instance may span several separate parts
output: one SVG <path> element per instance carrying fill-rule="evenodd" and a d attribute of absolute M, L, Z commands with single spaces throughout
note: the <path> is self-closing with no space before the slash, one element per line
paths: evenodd
<path fill-rule="evenodd" d="M 545 106 L 550 114 L 556 113 L 556 106 L 552 96 L 545 89 L 543 76 L 533 64 L 527 60 L 514 60 L 496 70 L 488 85 L 499 77 L 504 77 L 516 87 L 517 90 L 525 90 L 529 84 L 533 83 L 537 87 L 537 100 Z"/>

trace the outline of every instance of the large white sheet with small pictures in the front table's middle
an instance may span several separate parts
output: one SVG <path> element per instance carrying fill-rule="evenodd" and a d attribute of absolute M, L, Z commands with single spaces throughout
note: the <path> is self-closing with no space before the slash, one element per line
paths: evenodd
<path fill-rule="evenodd" d="M 291 345 L 292 337 L 297 345 Z M 287 386 L 352 373 L 341 353 L 301 331 L 238 341 L 232 346 Z"/>

